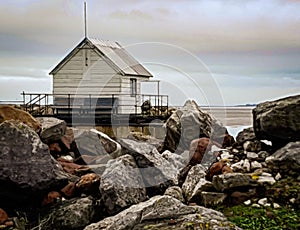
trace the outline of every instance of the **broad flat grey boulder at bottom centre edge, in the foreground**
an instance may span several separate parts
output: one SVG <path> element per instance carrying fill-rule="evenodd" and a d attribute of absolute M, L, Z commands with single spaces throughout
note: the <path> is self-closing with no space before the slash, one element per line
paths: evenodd
<path fill-rule="evenodd" d="M 239 229 L 220 212 L 187 206 L 171 196 L 155 196 L 107 217 L 84 230 L 114 229 Z"/>

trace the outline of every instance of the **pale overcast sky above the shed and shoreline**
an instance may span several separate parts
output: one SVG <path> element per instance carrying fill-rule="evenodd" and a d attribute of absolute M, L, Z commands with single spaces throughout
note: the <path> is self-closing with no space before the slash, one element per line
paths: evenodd
<path fill-rule="evenodd" d="M 300 1 L 87 0 L 87 9 L 88 36 L 125 46 L 174 104 L 300 93 Z M 0 17 L 0 100 L 51 92 L 49 72 L 84 37 L 83 0 L 1 1 Z"/>

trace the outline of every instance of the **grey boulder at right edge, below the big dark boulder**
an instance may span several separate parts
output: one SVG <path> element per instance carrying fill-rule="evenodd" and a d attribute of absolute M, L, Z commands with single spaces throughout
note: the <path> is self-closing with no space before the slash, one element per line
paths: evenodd
<path fill-rule="evenodd" d="M 275 175 L 299 176 L 300 172 L 300 141 L 288 143 L 283 148 L 266 158 L 266 163 Z"/>

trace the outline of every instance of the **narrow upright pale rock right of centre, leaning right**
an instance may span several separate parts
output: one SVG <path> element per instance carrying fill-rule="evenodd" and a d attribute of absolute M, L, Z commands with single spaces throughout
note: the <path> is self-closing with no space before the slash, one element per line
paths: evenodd
<path fill-rule="evenodd" d="M 192 198 L 194 189 L 200 179 L 205 179 L 205 168 L 202 165 L 195 165 L 193 166 L 189 172 L 188 175 L 182 185 L 182 191 L 185 199 L 189 201 Z"/>

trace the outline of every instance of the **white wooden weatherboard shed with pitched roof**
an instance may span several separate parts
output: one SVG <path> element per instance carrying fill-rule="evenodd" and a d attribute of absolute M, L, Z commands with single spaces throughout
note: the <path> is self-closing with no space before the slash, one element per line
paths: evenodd
<path fill-rule="evenodd" d="M 152 74 L 119 43 L 84 38 L 51 72 L 54 105 L 114 105 L 118 113 L 140 112 L 141 82 Z M 138 106 L 137 106 L 138 105 Z"/>

